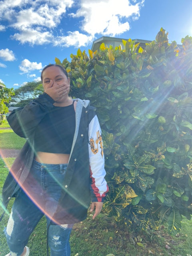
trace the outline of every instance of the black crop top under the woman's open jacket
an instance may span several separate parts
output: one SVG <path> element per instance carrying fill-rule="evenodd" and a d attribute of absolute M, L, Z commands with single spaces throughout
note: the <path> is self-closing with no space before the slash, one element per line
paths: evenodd
<path fill-rule="evenodd" d="M 74 101 L 66 107 L 53 106 L 36 128 L 34 150 L 35 152 L 70 154 L 74 132 Z"/>

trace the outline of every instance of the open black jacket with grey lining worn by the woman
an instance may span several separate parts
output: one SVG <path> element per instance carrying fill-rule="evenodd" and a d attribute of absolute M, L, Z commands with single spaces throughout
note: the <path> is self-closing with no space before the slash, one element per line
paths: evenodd
<path fill-rule="evenodd" d="M 10 198 L 16 196 L 18 190 L 22 188 L 30 172 L 34 159 L 34 131 L 40 120 L 52 108 L 53 103 L 52 98 L 44 93 L 26 107 L 16 109 L 8 116 L 8 122 L 14 132 L 28 139 L 15 159 L 4 183 L 2 197 L 5 207 Z M 91 135 L 88 132 L 89 129 Z M 76 130 L 59 206 L 53 217 L 56 224 L 72 224 L 84 220 L 90 201 L 102 202 L 108 191 L 104 179 L 106 174 L 104 156 L 92 154 L 93 150 L 89 146 L 89 137 L 94 138 L 98 129 L 100 126 L 95 109 L 90 106 L 88 100 L 77 99 Z M 90 164 L 90 154 L 92 154 L 92 159 L 95 158 L 93 164 Z M 96 169 L 95 172 L 93 169 Z"/>

